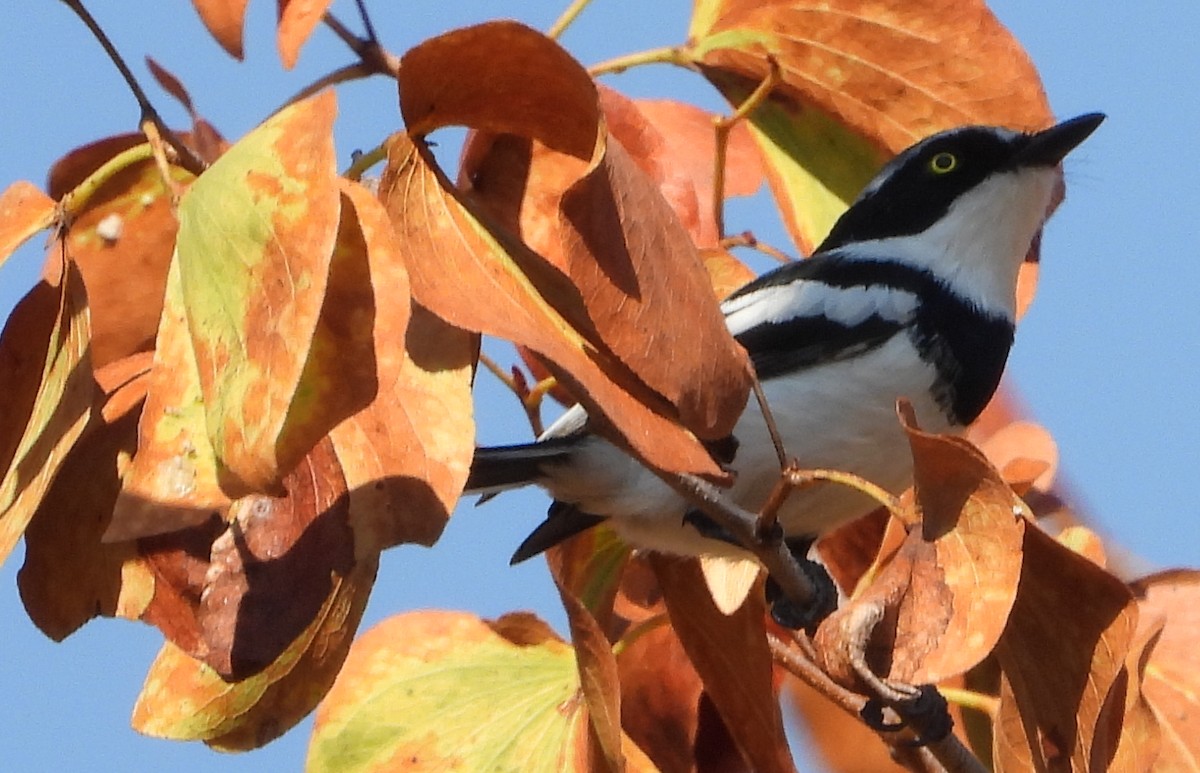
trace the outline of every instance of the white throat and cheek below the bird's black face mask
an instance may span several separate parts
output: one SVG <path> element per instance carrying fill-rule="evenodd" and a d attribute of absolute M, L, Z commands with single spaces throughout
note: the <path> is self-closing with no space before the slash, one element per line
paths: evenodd
<path fill-rule="evenodd" d="M 926 269 L 980 310 L 1016 314 L 1016 274 L 1046 218 L 1055 168 L 992 175 L 960 196 L 919 234 L 847 245 L 854 257 L 886 256 Z"/>

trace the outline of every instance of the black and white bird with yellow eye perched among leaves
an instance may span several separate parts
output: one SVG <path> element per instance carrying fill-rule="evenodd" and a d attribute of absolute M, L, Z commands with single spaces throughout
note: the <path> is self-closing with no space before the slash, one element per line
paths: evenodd
<path fill-rule="evenodd" d="M 922 426 L 968 425 L 991 399 L 1016 313 L 1016 276 L 1040 234 L 1060 162 L 1104 115 L 1033 133 L 965 126 L 889 162 L 805 260 L 764 274 L 722 304 L 745 347 L 788 455 L 805 468 L 856 473 L 893 492 L 912 483 L 899 397 Z M 728 496 L 757 510 L 779 461 L 754 401 L 720 460 Z M 576 406 L 534 443 L 481 448 L 468 492 L 535 484 L 554 499 L 514 563 L 602 521 L 635 547 L 744 556 L 653 472 L 588 431 Z M 790 538 L 820 537 L 875 504 L 818 484 L 779 511 Z"/>

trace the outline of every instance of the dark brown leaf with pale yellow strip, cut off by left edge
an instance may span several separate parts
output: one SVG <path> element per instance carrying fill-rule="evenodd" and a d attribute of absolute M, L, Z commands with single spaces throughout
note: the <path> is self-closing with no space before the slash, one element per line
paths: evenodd
<path fill-rule="evenodd" d="M 92 414 L 88 301 L 79 272 L 41 282 L 17 305 L 0 335 L 0 562 L 34 517 L 62 460 Z"/>

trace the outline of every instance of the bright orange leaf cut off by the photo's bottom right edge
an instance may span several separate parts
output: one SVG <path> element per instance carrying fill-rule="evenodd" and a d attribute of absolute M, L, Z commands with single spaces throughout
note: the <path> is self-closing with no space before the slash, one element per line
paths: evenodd
<path fill-rule="evenodd" d="M 1163 771 L 1200 768 L 1200 571 L 1172 569 L 1133 583 L 1138 597 L 1139 636 L 1162 622 L 1150 653 L 1141 693 L 1162 725 Z"/>

